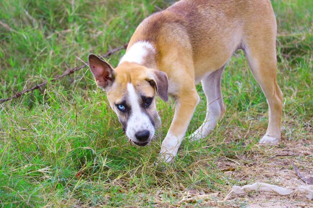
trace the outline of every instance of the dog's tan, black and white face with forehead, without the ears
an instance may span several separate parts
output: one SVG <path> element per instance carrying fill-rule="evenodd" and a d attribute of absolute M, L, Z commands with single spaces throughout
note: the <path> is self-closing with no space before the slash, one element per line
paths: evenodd
<path fill-rule="evenodd" d="M 107 90 L 110 106 L 124 132 L 139 146 L 147 145 L 155 128 L 161 125 L 155 106 L 157 77 L 154 74 L 137 64 L 122 64 L 115 68 L 114 81 Z"/>

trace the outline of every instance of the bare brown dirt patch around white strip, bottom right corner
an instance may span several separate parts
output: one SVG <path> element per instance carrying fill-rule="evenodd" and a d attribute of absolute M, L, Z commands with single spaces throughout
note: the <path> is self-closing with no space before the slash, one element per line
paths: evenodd
<path fill-rule="evenodd" d="M 255 145 L 252 151 L 244 155 L 219 158 L 215 164 L 225 175 L 238 181 L 238 186 L 262 182 L 293 189 L 306 184 L 297 176 L 292 164 L 303 176 L 313 176 L 313 143 L 302 140 L 288 141 L 279 146 Z M 226 201 L 223 201 L 223 197 L 201 205 L 223 208 L 313 208 L 313 201 L 307 200 L 305 194 L 280 196 L 274 192 L 251 191 L 243 196 L 232 194 Z"/>

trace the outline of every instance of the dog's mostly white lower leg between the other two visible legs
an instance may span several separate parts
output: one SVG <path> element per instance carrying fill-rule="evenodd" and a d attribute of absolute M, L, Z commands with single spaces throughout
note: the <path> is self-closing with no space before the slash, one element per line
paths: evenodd
<path fill-rule="evenodd" d="M 191 140 L 199 140 L 206 137 L 215 128 L 218 119 L 225 112 L 220 90 L 221 74 L 224 67 L 210 73 L 201 80 L 202 89 L 206 96 L 206 116 L 202 125 L 189 137 Z"/>

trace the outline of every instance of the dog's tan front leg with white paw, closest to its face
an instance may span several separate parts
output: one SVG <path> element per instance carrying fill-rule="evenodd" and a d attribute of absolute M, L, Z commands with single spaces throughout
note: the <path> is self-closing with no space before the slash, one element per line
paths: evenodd
<path fill-rule="evenodd" d="M 199 100 L 195 87 L 176 97 L 174 118 L 161 145 L 160 157 L 165 162 L 171 162 L 176 156 Z"/>

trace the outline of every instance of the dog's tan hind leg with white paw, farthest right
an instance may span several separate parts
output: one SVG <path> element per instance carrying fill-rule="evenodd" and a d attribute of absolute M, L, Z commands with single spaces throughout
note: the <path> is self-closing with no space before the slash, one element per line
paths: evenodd
<path fill-rule="evenodd" d="M 273 16 L 273 22 L 274 16 Z M 275 24 L 262 24 L 251 29 L 243 41 L 244 52 L 255 80 L 260 85 L 269 107 L 269 122 L 261 144 L 277 144 L 280 141 L 282 92 L 276 82 Z"/>

